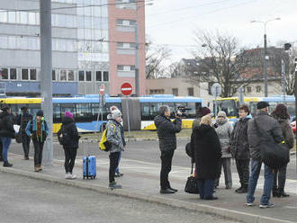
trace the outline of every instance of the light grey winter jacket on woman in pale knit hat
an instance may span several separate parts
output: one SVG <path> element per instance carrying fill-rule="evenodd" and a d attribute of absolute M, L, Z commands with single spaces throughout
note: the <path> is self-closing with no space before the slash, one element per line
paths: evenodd
<path fill-rule="evenodd" d="M 220 138 L 221 157 L 230 158 L 232 157 L 230 151 L 230 138 L 233 131 L 233 126 L 227 119 L 223 121 L 216 120 L 216 123 L 218 124 L 218 128 L 215 130 L 218 134 L 218 137 Z"/>

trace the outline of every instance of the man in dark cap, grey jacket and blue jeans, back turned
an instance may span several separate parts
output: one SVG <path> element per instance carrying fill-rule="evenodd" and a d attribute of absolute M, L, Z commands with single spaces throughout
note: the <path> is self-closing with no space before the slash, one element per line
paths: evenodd
<path fill-rule="evenodd" d="M 251 174 L 248 180 L 247 188 L 247 206 L 253 206 L 255 201 L 255 190 L 257 187 L 257 179 L 261 171 L 261 156 L 259 147 L 260 136 L 258 135 L 259 129 L 265 130 L 268 135 L 271 136 L 275 143 L 281 143 L 283 141 L 282 129 L 278 121 L 275 120 L 268 114 L 269 103 L 260 102 L 257 103 L 257 113 L 254 118 L 248 121 L 247 125 L 247 137 L 249 142 L 250 156 L 252 158 L 251 163 Z M 265 165 L 264 174 L 264 189 L 263 195 L 260 201 L 260 208 L 272 208 L 273 203 L 270 203 L 270 196 L 274 184 L 274 173 L 273 170 Z"/>

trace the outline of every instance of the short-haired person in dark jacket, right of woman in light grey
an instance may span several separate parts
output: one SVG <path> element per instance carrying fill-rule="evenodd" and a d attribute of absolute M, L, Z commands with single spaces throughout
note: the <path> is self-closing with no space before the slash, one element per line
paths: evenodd
<path fill-rule="evenodd" d="M 240 187 L 238 193 L 247 192 L 249 177 L 249 144 L 247 138 L 247 123 L 250 120 L 249 109 L 246 104 L 239 107 L 239 120 L 235 123 L 231 134 L 231 154 L 235 158 Z"/>

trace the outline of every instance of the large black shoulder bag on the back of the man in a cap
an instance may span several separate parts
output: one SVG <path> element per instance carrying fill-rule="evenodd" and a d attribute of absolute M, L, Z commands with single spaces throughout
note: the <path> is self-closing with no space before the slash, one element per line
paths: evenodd
<path fill-rule="evenodd" d="M 257 133 L 260 136 L 260 156 L 262 162 L 272 169 L 282 168 L 290 160 L 289 149 L 283 143 L 275 143 L 274 138 L 269 136 L 265 130 L 260 129 L 255 119 Z"/>

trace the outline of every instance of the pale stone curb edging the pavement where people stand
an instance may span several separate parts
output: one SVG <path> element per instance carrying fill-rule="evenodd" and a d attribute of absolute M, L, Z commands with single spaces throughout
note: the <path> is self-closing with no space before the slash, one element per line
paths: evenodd
<path fill-rule="evenodd" d="M 58 160 L 55 160 L 54 162 L 56 163 L 57 161 Z M 81 183 L 77 181 L 69 181 L 55 176 L 49 176 L 46 174 L 33 173 L 33 172 L 31 173 L 23 170 L 17 170 L 14 168 L 0 167 L 0 172 L 6 173 L 6 174 L 21 175 L 35 180 L 43 180 L 43 181 L 48 181 L 50 183 L 59 183 L 62 185 L 73 186 L 81 189 L 91 190 L 94 192 L 101 192 L 105 194 L 112 194 L 115 196 L 136 199 L 139 201 L 158 203 L 158 204 L 167 205 L 178 209 L 199 211 L 206 214 L 220 216 L 225 219 L 239 220 L 245 223 L 293 223 L 293 221 L 273 219 L 269 217 L 263 217 L 263 216 L 249 214 L 249 213 L 240 212 L 236 210 L 226 210 L 221 208 L 215 208 L 205 204 L 190 203 L 187 201 L 178 201 L 175 199 L 167 198 L 166 195 L 164 196 L 148 195 L 141 192 L 129 192 L 124 189 L 112 191 L 107 187 L 104 187 L 101 185 Z"/>

